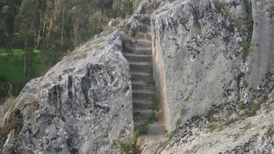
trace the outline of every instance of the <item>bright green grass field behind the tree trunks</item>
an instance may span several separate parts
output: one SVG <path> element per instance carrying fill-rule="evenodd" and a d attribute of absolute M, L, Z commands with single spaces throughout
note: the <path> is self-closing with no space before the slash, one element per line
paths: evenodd
<path fill-rule="evenodd" d="M 11 82 L 19 84 L 23 81 L 24 52 L 20 49 L 12 50 L 12 54 L 0 48 L 0 82 Z M 32 77 L 36 77 L 44 69 L 41 68 L 41 54 L 39 50 L 34 50 Z"/>

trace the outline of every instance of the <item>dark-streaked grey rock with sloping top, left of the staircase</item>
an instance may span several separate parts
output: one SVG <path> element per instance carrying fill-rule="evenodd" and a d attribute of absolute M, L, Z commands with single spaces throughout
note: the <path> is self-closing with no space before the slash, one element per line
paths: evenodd
<path fill-rule="evenodd" d="M 21 126 L 7 133 L 1 152 L 118 153 L 117 140 L 128 140 L 134 127 L 129 64 L 121 51 L 115 31 L 27 83 L 18 110 L 5 119 L 9 125 L 14 115 Z"/>

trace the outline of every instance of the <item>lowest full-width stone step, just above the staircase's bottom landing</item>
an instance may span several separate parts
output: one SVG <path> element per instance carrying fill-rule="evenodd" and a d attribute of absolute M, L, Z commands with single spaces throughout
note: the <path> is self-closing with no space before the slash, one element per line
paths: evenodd
<path fill-rule="evenodd" d="M 157 119 L 162 119 L 162 112 L 157 112 L 155 111 L 155 116 L 157 117 Z M 149 117 L 153 114 L 152 110 L 149 109 L 135 109 L 133 108 L 133 120 L 134 123 L 144 123 L 145 121 L 147 121 L 149 119 Z"/>

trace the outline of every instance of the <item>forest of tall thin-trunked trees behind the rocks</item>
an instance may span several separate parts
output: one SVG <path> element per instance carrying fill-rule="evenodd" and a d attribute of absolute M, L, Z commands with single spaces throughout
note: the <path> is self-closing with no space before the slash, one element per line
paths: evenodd
<path fill-rule="evenodd" d="M 111 18 L 129 17 L 140 1 L 0 0 L 0 48 L 9 53 L 6 59 L 13 49 L 23 51 L 17 63 L 23 67 L 20 74 L 25 83 L 38 73 L 33 68 L 34 50 L 42 57 L 41 68 L 51 67 L 101 33 Z"/>

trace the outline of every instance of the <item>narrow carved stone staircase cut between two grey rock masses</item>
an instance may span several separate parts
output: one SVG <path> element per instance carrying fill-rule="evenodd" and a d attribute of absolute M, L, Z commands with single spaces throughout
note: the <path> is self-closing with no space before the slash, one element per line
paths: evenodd
<path fill-rule="evenodd" d="M 148 34 L 151 36 L 150 27 Z M 134 46 L 134 52 L 124 52 L 124 57 L 130 64 L 130 74 L 132 81 L 132 103 L 134 126 L 140 127 L 149 117 L 154 114 L 151 107 L 150 97 L 153 85 L 147 82 L 149 71 L 152 67 L 152 43 L 148 39 L 138 39 Z M 144 135 L 148 137 L 163 136 L 166 129 L 162 121 L 162 112 L 155 111 L 155 116 L 159 121 L 149 124 L 150 128 Z"/>

